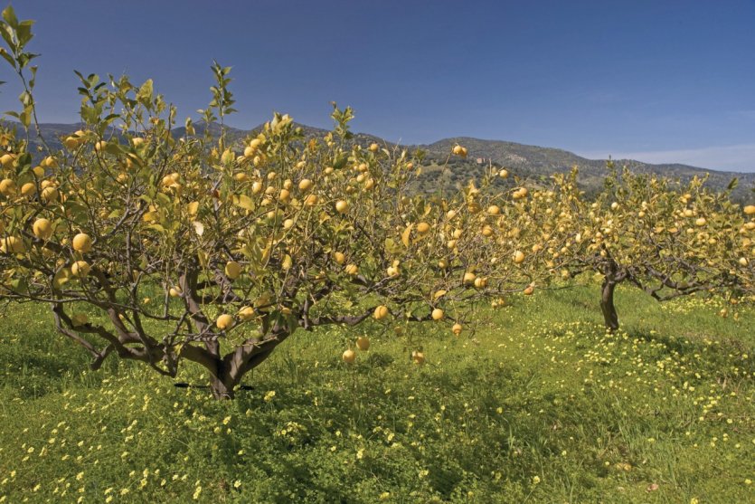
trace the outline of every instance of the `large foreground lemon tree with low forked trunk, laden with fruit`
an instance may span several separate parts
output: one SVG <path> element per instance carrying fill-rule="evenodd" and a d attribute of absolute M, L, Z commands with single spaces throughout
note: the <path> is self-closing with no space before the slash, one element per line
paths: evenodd
<path fill-rule="evenodd" d="M 427 320 L 460 334 L 480 300 L 533 293 L 569 240 L 562 217 L 534 210 L 555 193 L 496 193 L 501 173 L 412 194 L 415 155 L 359 145 L 353 111 L 335 104 L 321 138 L 275 114 L 231 141 L 230 68 L 217 63 L 200 112 L 219 138 L 190 119 L 177 134 L 152 81 L 79 73 L 80 130 L 60 151 L 33 148 L 32 24 L 10 7 L 3 18 L 24 94 L 0 132 L 0 295 L 50 306 L 94 368 L 118 356 L 176 376 L 191 361 L 232 397 L 297 330 Z"/>

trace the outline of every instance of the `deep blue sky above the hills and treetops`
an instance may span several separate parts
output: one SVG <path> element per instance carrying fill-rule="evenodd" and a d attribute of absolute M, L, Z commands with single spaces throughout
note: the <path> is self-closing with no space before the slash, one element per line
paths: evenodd
<path fill-rule="evenodd" d="M 250 128 L 272 110 L 408 143 L 470 136 L 755 171 L 755 2 L 14 2 L 35 19 L 38 101 L 73 122 L 73 70 L 154 78 L 180 117 L 233 67 Z M 0 70 L 0 80 L 13 76 Z M 15 109 L 17 88 L 0 88 Z"/>

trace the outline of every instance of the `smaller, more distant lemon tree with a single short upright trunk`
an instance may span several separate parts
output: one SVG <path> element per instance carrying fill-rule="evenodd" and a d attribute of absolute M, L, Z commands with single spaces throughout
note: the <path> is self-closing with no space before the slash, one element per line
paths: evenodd
<path fill-rule="evenodd" d="M 698 291 L 736 297 L 751 288 L 755 223 L 704 178 L 681 183 L 627 169 L 619 174 L 609 164 L 603 193 L 578 201 L 581 246 L 571 273 L 599 275 L 607 328 L 618 328 L 614 292 L 622 282 L 661 301 Z"/>

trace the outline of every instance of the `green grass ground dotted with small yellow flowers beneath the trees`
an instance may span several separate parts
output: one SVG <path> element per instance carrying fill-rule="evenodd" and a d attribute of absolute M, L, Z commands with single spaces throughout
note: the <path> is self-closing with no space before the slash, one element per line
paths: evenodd
<path fill-rule="evenodd" d="M 460 338 L 425 325 L 425 366 L 378 323 L 297 333 L 232 402 L 88 371 L 42 309 L 8 309 L 0 502 L 755 502 L 755 311 L 618 290 L 607 335 L 597 300 L 514 297 Z"/>

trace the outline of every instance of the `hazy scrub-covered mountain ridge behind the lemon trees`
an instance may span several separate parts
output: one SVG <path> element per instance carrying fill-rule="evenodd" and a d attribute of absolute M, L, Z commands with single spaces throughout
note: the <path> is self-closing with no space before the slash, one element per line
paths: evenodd
<path fill-rule="evenodd" d="M 195 124 L 196 133 L 203 134 L 204 124 Z M 304 130 L 307 138 L 320 137 L 326 133 L 326 129 L 314 128 L 298 124 Z M 52 124 L 40 125 L 42 138 L 54 149 L 62 148 L 61 138 L 70 135 L 80 129 L 81 124 Z M 220 134 L 220 125 L 209 125 L 211 134 Z M 246 138 L 253 131 L 259 131 L 260 127 L 244 130 L 240 128 L 226 127 L 227 136 L 231 141 Z M 185 134 L 185 128 L 175 128 L 176 138 Z M 394 144 L 382 140 L 382 138 L 366 133 L 354 134 L 354 141 L 363 145 L 377 142 L 386 147 L 395 147 Z M 467 147 L 468 157 L 448 157 L 455 145 Z M 479 176 L 486 166 L 501 166 L 508 168 L 514 175 L 521 178 L 542 179 L 556 172 L 567 172 L 571 166 L 580 168 L 579 182 L 588 193 L 594 193 L 602 187 L 603 178 L 606 176 L 605 159 L 588 159 L 580 157 L 572 152 L 552 148 L 537 147 L 503 140 L 483 140 L 480 138 L 444 138 L 429 145 L 403 146 L 411 149 L 419 148 L 426 153 L 423 162 L 423 174 L 420 176 L 418 188 L 432 191 L 439 184 L 458 185 L 467 180 L 469 176 Z M 732 191 L 732 198 L 739 202 L 752 201 L 755 199 L 755 173 L 736 173 L 729 171 L 709 170 L 696 166 L 682 164 L 653 165 L 634 159 L 615 159 L 616 166 L 628 166 L 633 171 L 642 173 L 654 173 L 659 176 L 688 180 L 693 176 L 708 175 L 708 185 L 721 190 L 731 183 L 732 178 L 737 178 L 739 185 Z"/>

